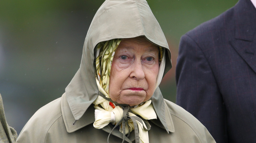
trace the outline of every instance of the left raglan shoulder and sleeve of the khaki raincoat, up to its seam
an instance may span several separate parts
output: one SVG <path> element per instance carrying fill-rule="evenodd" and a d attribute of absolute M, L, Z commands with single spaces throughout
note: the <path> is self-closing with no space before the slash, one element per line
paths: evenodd
<path fill-rule="evenodd" d="M 23 127 L 16 143 L 44 143 L 50 129 L 63 122 L 60 101 L 58 98 L 37 110 Z"/>

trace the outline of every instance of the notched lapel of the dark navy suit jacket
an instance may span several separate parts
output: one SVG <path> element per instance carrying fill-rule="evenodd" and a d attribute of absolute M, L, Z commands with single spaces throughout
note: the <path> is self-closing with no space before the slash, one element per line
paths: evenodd
<path fill-rule="evenodd" d="M 235 35 L 230 41 L 236 52 L 256 72 L 256 9 L 250 0 L 234 7 Z"/>

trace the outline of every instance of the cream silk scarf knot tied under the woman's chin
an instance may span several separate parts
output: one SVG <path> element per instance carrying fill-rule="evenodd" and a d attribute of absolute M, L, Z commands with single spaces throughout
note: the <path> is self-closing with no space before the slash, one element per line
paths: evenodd
<path fill-rule="evenodd" d="M 147 120 L 157 119 L 151 100 L 136 108 L 130 108 L 129 106 L 123 107 L 121 105 L 116 105 L 113 108 L 109 105 L 109 101 L 98 96 L 94 104 L 95 122 L 93 126 L 95 128 L 101 129 L 112 123 L 115 125 L 112 131 L 119 126 L 119 131 L 123 133 L 123 141 L 125 135 L 128 137 L 130 132 L 134 130 L 136 143 L 149 143 L 148 130 L 150 130 L 151 126 Z M 142 117 L 142 119 L 135 114 Z"/>

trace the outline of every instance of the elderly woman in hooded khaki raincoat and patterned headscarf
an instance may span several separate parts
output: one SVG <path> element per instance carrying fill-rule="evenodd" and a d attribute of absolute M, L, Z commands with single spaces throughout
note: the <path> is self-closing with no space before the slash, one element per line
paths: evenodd
<path fill-rule="evenodd" d="M 145 0 L 106 0 L 66 92 L 32 116 L 17 143 L 215 142 L 191 114 L 163 99 L 158 85 L 170 58 Z"/>

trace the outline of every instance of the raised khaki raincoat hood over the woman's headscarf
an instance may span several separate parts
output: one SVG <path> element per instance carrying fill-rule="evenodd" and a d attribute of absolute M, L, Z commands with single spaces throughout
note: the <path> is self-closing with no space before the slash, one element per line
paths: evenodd
<path fill-rule="evenodd" d="M 144 36 L 152 43 L 166 49 L 164 74 L 172 67 L 171 53 L 159 23 L 145 0 L 106 0 L 97 10 L 87 32 L 80 68 L 66 87 L 67 101 L 76 120 L 100 94 L 96 79 L 94 48 L 99 42 L 111 39 Z M 160 99 L 160 100 L 159 100 Z M 159 116 L 163 97 L 155 92 L 152 103 Z M 162 105 L 161 105 L 162 104 Z"/>

